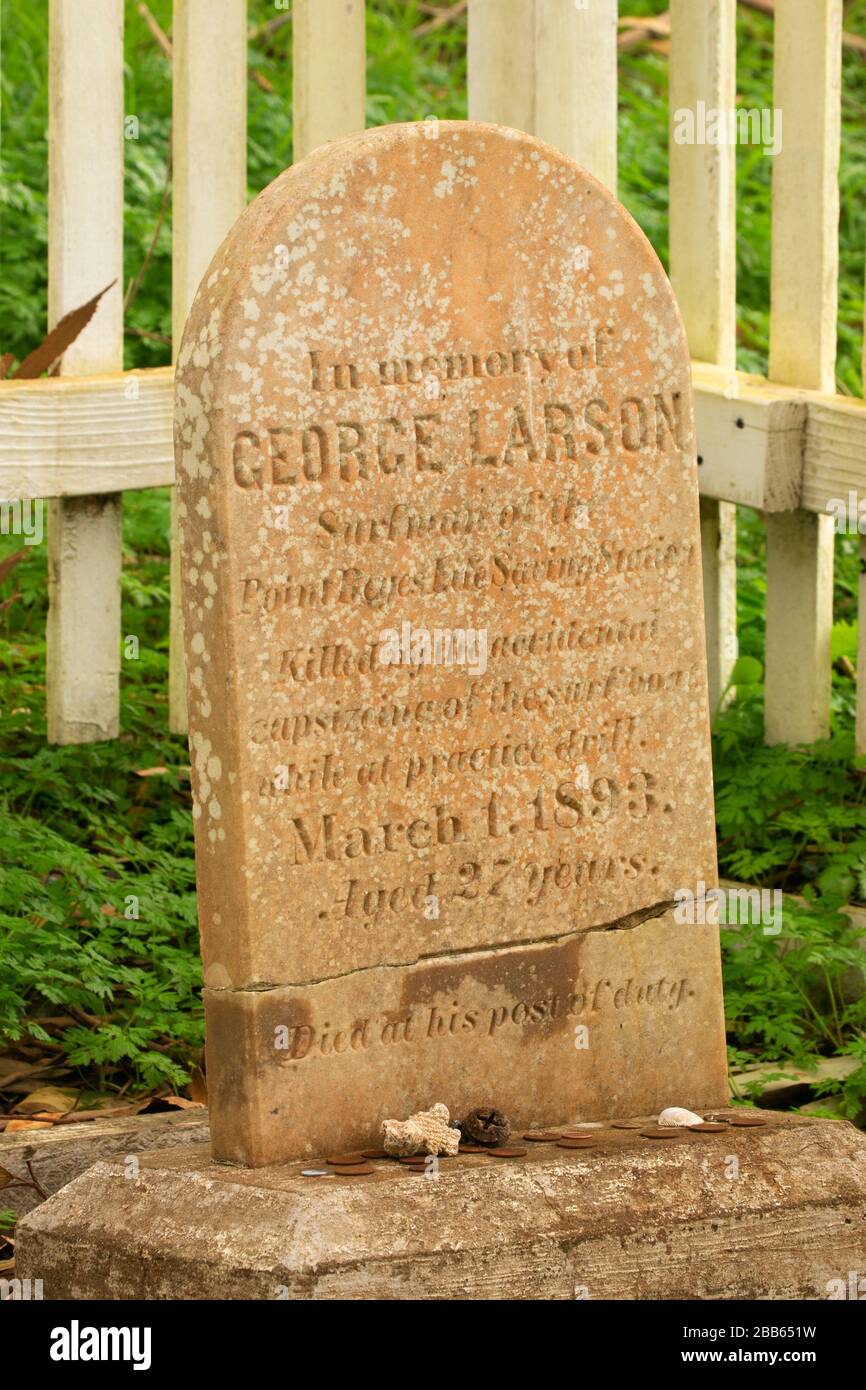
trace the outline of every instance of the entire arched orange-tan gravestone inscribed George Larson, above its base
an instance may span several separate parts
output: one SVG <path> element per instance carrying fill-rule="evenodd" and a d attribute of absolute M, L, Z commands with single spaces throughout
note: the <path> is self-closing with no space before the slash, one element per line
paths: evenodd
<path fill-rule="evenodd" d="M 217 1154 L 723 1101 L 713 929 L 634 926 L 716 867 L 688 350 L 623 207 L 500 126 L 316 152 L 199 289 L 177 475 Z"/>

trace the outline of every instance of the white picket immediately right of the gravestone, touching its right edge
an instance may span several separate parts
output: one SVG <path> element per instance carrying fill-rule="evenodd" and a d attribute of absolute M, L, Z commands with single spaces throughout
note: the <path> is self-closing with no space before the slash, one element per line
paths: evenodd
<path fill-rule="evenodd" d="M 735 156 L 731 145 L 681 143 L 677 111 L 733 111 L 737 97 L 735 0 L 671 0 L 670 278 L 692 357 L 735 367 Z M 710 709 L 719 708 L 737 653 L 737 507 L 701 499 L 701 549 Z M 730 695 L 730 692 L 728 692 Z"/>

